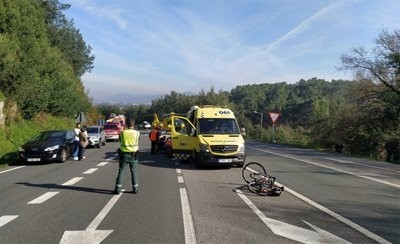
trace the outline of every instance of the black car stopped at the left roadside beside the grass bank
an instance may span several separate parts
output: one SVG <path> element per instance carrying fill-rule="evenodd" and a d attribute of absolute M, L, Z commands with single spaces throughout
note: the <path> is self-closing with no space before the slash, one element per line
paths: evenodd
<path fill-rule="evenodd" d="M 75 134 L 72 130 L 43 131 L 18 149 L 23 162 L 65 162 L 74 149 Z"/>

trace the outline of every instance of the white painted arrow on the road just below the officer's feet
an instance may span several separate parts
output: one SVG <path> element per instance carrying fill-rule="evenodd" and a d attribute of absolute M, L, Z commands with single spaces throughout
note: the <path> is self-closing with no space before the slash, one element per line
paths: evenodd
<path fill-rule="evenodd" d="M 103 221 L 103 219 L 107 216 L 111 208 L 115 205 L 124 192 L 125 189 L 122 189 L 121 194 L 113 196 L 85 230 L 65 231 L 61 237 L 60 244 L 101 243 L 114 230 L 96 230 L 96 228 L 100 225 L 101 221 Z"/>

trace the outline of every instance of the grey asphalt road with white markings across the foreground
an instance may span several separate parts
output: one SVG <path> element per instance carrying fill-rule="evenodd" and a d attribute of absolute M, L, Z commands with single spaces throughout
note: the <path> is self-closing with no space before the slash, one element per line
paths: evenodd
<path fill-rule="evenodd" d="M 241 168 L 150 155 L 143 135 L 140 191 L 113 195 L 117 146 L 0 172 L 0 243 L 400 243 L 398 165 L 248 141 L 286 187 L 257 196 Z"/>

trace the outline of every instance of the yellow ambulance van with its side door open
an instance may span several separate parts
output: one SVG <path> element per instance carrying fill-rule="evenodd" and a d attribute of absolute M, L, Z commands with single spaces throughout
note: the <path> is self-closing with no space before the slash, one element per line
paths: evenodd
<path fill-rule="evenodd" d="M 235 115 L 225 106 L 193 106 L 186 116 L 171 113 L 158 124 L 170 131 L 172 154 L 177 159 L 192 159 L 196 166 L 242 167 L 246 161 L 241 130 Z"/>

